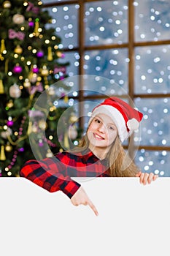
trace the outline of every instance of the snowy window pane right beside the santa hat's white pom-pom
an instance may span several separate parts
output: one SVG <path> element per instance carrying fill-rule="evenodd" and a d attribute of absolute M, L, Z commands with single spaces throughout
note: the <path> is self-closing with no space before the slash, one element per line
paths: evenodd
<path fill-rule="evenodd" d="M 170 98 L 136 99 L 144 114 L 141 122 L 141 145 L 170 146 Z"/>

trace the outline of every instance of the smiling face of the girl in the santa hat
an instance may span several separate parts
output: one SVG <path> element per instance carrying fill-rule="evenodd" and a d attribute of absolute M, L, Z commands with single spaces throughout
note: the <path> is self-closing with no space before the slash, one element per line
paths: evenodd
<path fill-rule="evenodd" d="M 91 121 L 87 135 L 90 150 L 97 157 L 104 158 L 117 137 L 117 127 L 112 118 L 105 114 L 98 114 Z"/>

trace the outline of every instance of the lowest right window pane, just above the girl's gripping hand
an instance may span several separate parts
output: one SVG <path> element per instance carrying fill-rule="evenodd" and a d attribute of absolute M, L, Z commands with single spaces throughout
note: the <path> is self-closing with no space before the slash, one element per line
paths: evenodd
<path fill-rule="evenodd" d="M 142 172 L 155 173 L 160 177 L 170 177 L 169 169 L 170 152 L 169 151 L 147 151 L 140 150 L 136 154 L 136 165 Z"/>

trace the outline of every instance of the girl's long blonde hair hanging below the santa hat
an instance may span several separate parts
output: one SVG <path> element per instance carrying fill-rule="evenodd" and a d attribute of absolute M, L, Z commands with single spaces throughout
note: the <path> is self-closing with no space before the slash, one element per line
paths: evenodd
<path fill-rule="evenodd" d="M 79 146 L 74 149 L 77 152 L 88 149 L 89 140 L 87 133 L 80 140 Z M 109 162 L 109 176 L 111 177 L 135 177 L 139 172 L 138 167 L 134 164 L 132 159 L 126 154 L 120 138 L 117 138 L 112 143 L 109 152 L 107 153 L 107 162 Z"/>

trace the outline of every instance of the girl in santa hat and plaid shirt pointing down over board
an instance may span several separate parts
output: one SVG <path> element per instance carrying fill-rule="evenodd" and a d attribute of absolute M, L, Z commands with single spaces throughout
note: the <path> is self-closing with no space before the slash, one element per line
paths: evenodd
<path fill-rule="evenodd" d="M 80 145 L 41 161 L 29 160 L 20 170 L 49 192 L 63 191 L 74 206 L 89 205 L 98 215 L 82 186 L 71 177 L 139 177 L 150 184 L 158 175 L 142 173 L 125 154 L 122 143 L 138 129 L 142 113 L 117 97 L 105 99 L 92 111 Z"/>

